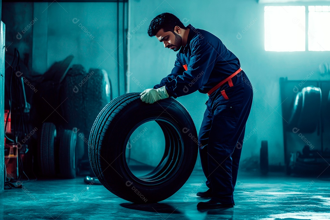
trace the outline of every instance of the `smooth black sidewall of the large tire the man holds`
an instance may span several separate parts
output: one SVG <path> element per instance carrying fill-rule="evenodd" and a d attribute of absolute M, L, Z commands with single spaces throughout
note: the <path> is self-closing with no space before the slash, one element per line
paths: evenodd
<path fill-rule="evenodd" d="M 141 123 L 152 119 L 172 122 L 182 138 L 184 151 L 180 164 L 171 178 L 156 185 L 141 184 L 132 178 L 132 173 L 126 169 L 125 159 L 126 137 L 128 139 L 134 128 Z M 190 128 L 190 131 L 184 133 L 186 128 Z M 191 137 L 197 138 L 193 121 L 180 103 L 173 99 L 165 99 L 150 105 L 143 103 L 140 99 L 134 100 L 116 115 L 116 120 L 112 119 L 111 125 L 105 131 L 104 139 L 100 139 L 99 153 L 102 157 L 98 156 L 98 159 L 101 170 L 104 170 L 100 181 L 114 194 L 116 191 L 108 185 L 116 184 L 116 190 L 126 191 L 127 198 L 125 199 L 131 202 L 158 202 L 168 198 L 182 187 L 194 167 L 191 163 L 196 162 L 198 144 L 190 137 L 190 134 Z M 141 195 L 147 201 L 143 200 Z"/>

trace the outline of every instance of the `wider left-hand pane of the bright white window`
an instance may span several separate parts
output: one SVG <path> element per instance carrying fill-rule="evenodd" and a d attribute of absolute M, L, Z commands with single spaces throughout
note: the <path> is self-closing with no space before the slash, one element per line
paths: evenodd
<path fill-rule="evenodd" d="M 265 6 L 265 50 L 305 51 L 305 6 Z"/>

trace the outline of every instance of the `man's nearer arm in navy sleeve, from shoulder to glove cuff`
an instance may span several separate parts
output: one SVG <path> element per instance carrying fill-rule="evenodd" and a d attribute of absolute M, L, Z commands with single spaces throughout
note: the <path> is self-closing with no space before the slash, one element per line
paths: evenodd
<path fill-rule="evenodd" d="M 165 85 L 168 95 L 177 98 L 193 93 L 205 85 L 217 58 L 217 51 L 209 43 L 201 42 L 194 45 L 191 48 L 188 70 Z"/>

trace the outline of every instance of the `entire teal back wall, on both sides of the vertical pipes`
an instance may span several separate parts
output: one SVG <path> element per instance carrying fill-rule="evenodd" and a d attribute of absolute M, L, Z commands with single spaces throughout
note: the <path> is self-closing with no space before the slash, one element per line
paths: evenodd
<path fill-rule="evenodd" d="M 261 141 L 268 140 L 270 163 L 283 164 L 279 78 L 304 79 L 313 71 L 311 79 L 329 79 L 329 76 L 320 76 L 319 66 L 329 62 L 330 56 L 328 51 L 265 51 L 264 6 L 255 0 L 131 0 L 127 36 L 130 40 L 130 91 L 151 88 L 171 72 L 176 53 L 165 49 L 155 38 L 150 38 L 147 29 L 153 17 L 163 12 L 173 13 L 186 25 L 191 23 L 218 36 L 239 57 L 253 84 L 254 102 L 241 161 L 259 155 Z M 7 26 L 6 55 L 13 53 L 14 47 L 21 54 L 32 54 L 28 66 L 37 73 L 43 73 L 54 61 L 73 54 L 72 64 L 82 64 L 87 70 L 90 67 L 104 68 L 113 82 L 114 97 L 118 95 L 115 3 L 3 3 L 3 20 Z M 17 39 L 17 33 L 33 20 L 33 25 Z M 81 26 L 86 27 L 89 35 Z M 120 81 L 123 82 L 120 51 Z M 123 92 L 121 83 L 120 93 Z M 207 98 L 207 95 L 198 92 L 178 98 L 190 112 L 197 131 Z M 153 129 L 154 126 L 148 125 L 148 132 L 144 135 L 150 137 L 150 132 L 153 140 L 140 139 L 136 143 L 136 153 L 133 148 L 131 151 L 134 159 L 151 165 L 154 164 L 153 154 L 158 155 L 161 150 L 155 142 L 163 140 L 161 132 Z M 197 165 L 200 165 L 199 159 Z"/>

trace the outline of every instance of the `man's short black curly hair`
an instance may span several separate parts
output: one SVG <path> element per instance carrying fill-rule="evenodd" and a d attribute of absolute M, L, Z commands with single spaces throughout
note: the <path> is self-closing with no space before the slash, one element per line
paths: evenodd
<path fill-rule="evenodd" d="M 172 31 L 174 32 L 174 27 L 179 26 L 182 29 L 187 29 L 181 20 L 171 14 L 171 13 L 162 13 L 157 15 L 155 18 L 152 19 L 148 28 L 148 35 L 149 37 L 153 37 L 157 34 L 157 32 L 163 28 L 164 32 Z"/>

